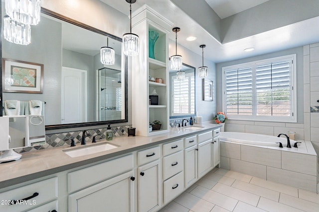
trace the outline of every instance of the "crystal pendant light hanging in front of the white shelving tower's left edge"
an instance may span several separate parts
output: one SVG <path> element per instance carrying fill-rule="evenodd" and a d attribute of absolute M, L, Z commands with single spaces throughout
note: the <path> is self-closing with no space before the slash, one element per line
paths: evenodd
<path fill-rule="evenodd" d="M 132 3 L 136 0 L 126 0 L 130 3 L 130 33 L 123 35 L 124 54 L 127 56 L 139 55 L 139 36 L 132 33 Z"/>

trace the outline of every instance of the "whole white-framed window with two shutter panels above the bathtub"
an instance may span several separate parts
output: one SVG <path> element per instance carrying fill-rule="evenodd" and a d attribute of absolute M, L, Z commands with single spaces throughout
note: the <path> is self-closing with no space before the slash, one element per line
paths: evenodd
<path fill-rule="evenodd" d="M 224 67 L 229 119 L 296 122 L 296 55 Z"/>

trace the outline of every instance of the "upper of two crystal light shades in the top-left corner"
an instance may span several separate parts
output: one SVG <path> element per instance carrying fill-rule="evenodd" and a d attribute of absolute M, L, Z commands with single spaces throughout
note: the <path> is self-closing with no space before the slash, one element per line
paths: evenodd
<path fill-rule="evenodd" d="M 5 0 L 5 13 L 16 22 L 36 25 L 40 21 L 41 0 Z"/>

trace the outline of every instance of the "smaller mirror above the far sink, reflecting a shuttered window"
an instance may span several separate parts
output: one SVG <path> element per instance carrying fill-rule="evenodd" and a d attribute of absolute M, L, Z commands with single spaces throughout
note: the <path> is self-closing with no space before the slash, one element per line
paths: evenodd
<path fill-rule="evenodd" d="M 169 118 L 195 115 L 195 68 L 183 64 L 181 71 L 185 71 L 185 79 L 182 81 L 177 79 L 176 71 L 169 71 Z"/>

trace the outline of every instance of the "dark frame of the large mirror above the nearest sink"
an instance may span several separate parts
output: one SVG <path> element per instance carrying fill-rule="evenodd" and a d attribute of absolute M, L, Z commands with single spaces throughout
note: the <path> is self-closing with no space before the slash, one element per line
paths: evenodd
<path fill-rule="evenodd" d="M 78 22 L 74 19 L 68 18 L 64 15 L 58 14 L 56 12 L 53 12 L 51 10 L 45 9 L 41 7 L 41 13 L 55 17 L 57 19 L 66 21 L 68 23 L 74 24 L 76 26 L 82 27 L 84 29 L 90 30 L 92 32 L 105 35 L 107 37 L 110 37 L 114 40 L 122 42 L 122 38 L 119 38 L 115 35 L 109 34 L 107 32 L 104 32 L 102 30 L 96 29 L 94 27 L 91 27 L 89 25 L 86 25 L 84 23 Z M 0 11 L 1 15 L 1 11 Z M 2 20 L 0 20 L 0 23 L 2 24 Z M 2 30 L 0 32 L 1 40 L 0 40 L 0 56 L 2 58 Z M 77 128 L 77 127 L 88 127 L 88 126 L 97 126 L 97 125 L 108 125 L 108 124 L 116 124 L 116 123 L 125 123 L 128 122 L 128 56 L 125 56 L 124 58 L 125 64 L 124 64 L 124 77 L 125 77 L 125 118 L 120 120 L 110 120 L 110 121 L 99 121 L 99 122 L 85 122 L 85 123 L 74 123 L 74 124 L 57 124 L 57 125 L 46 125 L 45 130 L 57 130 L 57 129 L 65 129 L 65 128 Z M 0 65 L 2 67 L 2 60 L 0 60 Z M 2 71 L 0 71 L 0 105 L 2 105 Z M 0 110 L 0 116 L 3 116 L 2 110 Z"/>

